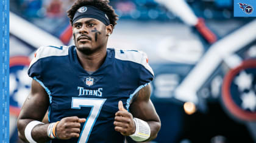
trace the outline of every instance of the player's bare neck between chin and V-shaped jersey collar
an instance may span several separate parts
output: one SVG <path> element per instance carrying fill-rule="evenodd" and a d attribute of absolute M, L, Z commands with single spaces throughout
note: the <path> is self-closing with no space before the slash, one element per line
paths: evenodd
<path fill-rule="evenodd" d="M 90 55 L 85 55 L 79 50 L 76 49 L 77 57 L 86 71 L 96 71 L 101 67 L 101 65 L 105 61 L 105 57 L 107 56 L 107 48 L 103 48 L 102 50 L 98 50 L 98 52 L 91 53 Z"/>

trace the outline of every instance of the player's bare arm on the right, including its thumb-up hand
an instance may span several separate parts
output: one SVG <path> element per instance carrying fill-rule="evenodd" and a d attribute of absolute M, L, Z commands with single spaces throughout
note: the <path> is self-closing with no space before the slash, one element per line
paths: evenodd
<path fill-rule="evenodd" d="M 151 128 L 151 135 L 146 141 L 152 141 L 157 137 L 157 133 L 161 127 L 161 122 L 157 112 L 155 111 L 155 107 L 151 102 L 150 95 L 150 85 L 138 91 L 132 99 L 130 113 L 124 109 L 123 103 L 119 102 L 119 111 L 116 112 L 114 122 L 116 131 L 119 131 L 124 136 L 132 135 L 136 129 L 133 122 L 133 117 L 135 117 L 148 122 L 149 127 Z"/>

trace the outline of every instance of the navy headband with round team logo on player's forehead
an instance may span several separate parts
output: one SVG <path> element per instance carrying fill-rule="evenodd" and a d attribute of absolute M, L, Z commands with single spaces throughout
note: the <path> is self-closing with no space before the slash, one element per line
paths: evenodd
<path fill-rule="evenodd" d="M 94 18 L 94 19 L 98 19 L 99 21 L 103 22 L 105 25 L 110 24 L 110 21 L 104 12 L 102 12 L 98 8 L 90 6 L 90 5 L 80 7 L 77 9 L 77 11 L 74 15 L 74 18 L 73 18 L 73 23 L 78 21 L 81 18 Z"/>

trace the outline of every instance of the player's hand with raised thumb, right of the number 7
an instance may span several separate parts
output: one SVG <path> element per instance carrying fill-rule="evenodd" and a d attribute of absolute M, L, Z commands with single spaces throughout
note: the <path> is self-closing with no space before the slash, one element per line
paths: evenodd
<path fill-rule="evenodd" d="M 118 102 L 118 109 L 115 114 L 115 130 L 124 136 L 132 135 L 136 130 L 132 114 L 124 108 L 122 101 Z"/>

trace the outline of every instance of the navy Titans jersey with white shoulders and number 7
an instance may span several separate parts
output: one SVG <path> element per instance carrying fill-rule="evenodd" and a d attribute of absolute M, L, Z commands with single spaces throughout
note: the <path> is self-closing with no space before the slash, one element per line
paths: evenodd
<path fill-rule="evenodd" d="M 68 116 L 86 118 L 80 137 L 52 142 L 124 142 L 114 129 L 118 101 L 129 109 L 130 99 L 152 81 L 154 73 L 145 53 L 107 49 L 101 67 L 92 74 L 82 68 L 76 47 L 41 47 L 29 67 L 29 76 L 49 95 L 49 122 Z"/>

